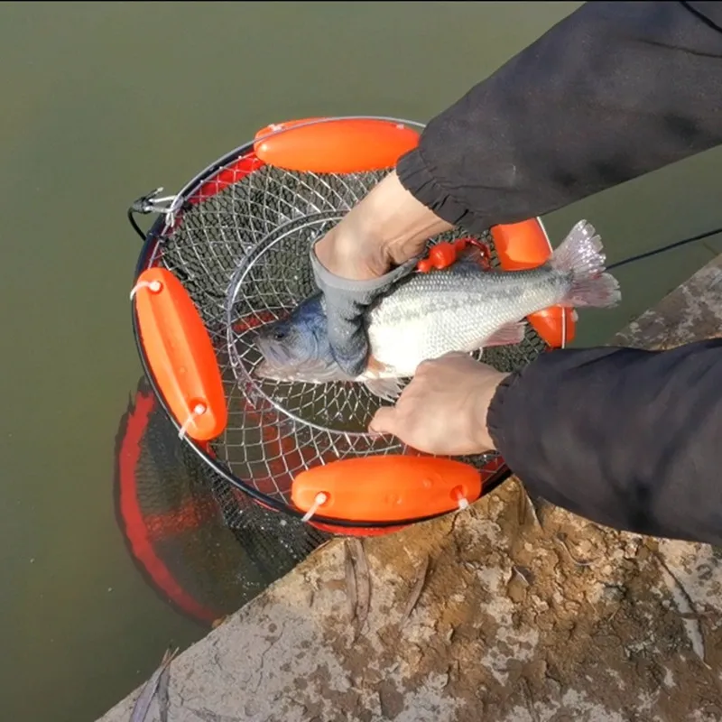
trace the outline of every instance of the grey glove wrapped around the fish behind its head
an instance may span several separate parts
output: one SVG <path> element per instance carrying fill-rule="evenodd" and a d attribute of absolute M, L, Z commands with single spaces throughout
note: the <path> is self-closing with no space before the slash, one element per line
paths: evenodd
<path fill-rule="evenodd" d="M 338 366 L 352 378 L 362 374 L 368 362 L 368 338 L 364 329 L 366 308 L 395 282 L 412 273 L 417 261 L 418 258 L 412 258 L 379 278 L 349 281 L 323 266 L 311 246 L 313 276 L 326 301 L 331 350 Z"/>

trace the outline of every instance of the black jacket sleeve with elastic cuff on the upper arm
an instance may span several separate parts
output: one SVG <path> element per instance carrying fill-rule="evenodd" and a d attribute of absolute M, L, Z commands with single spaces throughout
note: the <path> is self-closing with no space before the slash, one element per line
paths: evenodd
<path fill-rule="evenodd" d="M 722 143 L 722 3 L 582 5 L 434 117 L 404 187 L 481 233 Z"/>

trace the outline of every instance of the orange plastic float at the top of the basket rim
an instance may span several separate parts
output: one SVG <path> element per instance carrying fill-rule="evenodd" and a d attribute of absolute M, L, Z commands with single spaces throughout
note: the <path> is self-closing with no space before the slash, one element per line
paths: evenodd
<path fill-rule="evenodd" d="M 267 125 L 255 134 L 259 160 L 288 171 L 356 173 L 390 168 L 419 143 L 411 127 L 375 118 L 305 118 Z M 283 133 L 264 135 L 291 128 Z"/>

